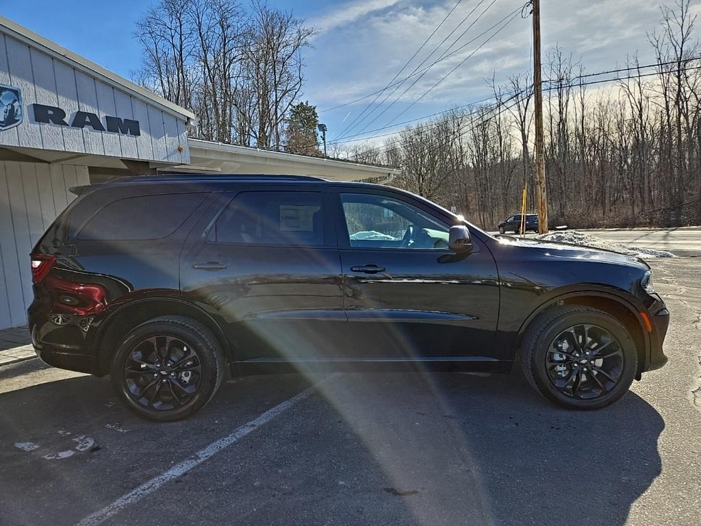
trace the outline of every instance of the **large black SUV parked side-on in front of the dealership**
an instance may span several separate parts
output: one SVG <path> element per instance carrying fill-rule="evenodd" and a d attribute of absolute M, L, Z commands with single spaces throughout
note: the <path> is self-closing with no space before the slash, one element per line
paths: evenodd
<path fill-rule="evenodd" d="M 494 238 L 405 191 L 291 176 L 131 177 L 79 197 L 32 253 L 50 365 L 111 375 L 142 417 L 199 410 L 235 375 L 509 372 L 597 409 L 667 358 L 649 267 Z"/>

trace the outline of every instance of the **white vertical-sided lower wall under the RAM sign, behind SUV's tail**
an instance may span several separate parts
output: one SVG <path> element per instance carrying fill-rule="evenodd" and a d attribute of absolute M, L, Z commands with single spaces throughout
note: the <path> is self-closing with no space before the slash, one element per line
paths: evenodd
<path fill-rule="evenodd" d="M 82 184 L 85 166 L 0 161 L 0 329 L 27 323 L 29 252 Z"/>

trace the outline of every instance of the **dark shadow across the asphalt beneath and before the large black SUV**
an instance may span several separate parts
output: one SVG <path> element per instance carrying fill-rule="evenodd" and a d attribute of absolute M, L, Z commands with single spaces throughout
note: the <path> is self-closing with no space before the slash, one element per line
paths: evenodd
<path fill-rule="evenodd" d="M 76 522 L 307 384 L 301 375 L 236 380 L 175 424 L 132 416 L 107 379 L 1 393 L 0 465 L 13 480 L 0 482 L 5 516 Z M 519 375 L 349 373 L 163 491 L 196 499 L 215 522 L 283 525 L 299 514 L 309 525 L 617 526 L 660 474 L 664 427 L 632 391 L 604 410 L 571 412 Z M 81 450 L 76 436 L 93 443 Z M 39 448 L 13 447 L 18 442 Z M 70 458 L 46 459 L 70 448 Z M 172 514 L 177 522 L 182 511 L 162 506 L 164 520 Z"/>

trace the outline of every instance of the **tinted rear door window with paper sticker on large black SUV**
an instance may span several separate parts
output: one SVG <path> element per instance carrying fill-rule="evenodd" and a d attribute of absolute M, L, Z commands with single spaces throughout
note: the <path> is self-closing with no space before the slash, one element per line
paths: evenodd
<path fill-rule="evenodd" d="M 221 243 L 324 244 L 322 194 L 245 191 L 224 210 L 210 238 Z"/>

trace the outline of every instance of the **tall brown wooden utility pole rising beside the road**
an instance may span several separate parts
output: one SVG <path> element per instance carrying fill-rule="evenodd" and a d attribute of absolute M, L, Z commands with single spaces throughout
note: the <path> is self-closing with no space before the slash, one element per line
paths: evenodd
<path fill-rule="evenodd" d="M 533 4 L 533 95 L 536 103 L 536 207 L 540 234 L 547 234 L 545 134 L 543 133 L 543 74 L 540 71 L 540 0 Z"/>

